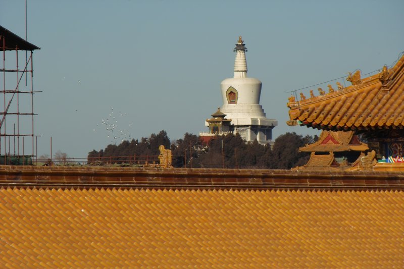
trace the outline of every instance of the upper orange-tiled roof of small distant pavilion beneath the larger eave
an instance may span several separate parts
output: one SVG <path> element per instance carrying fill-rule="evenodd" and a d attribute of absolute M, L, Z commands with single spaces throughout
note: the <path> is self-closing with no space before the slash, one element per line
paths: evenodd
<path fill-rule="evenodd" d="M 369 149 L 368 145 L 362 143 L 352 131 L 327 130 L 321 132 L 316 142 L 299 148 L 304 152 L 365 151 L 367 149 Z"/>

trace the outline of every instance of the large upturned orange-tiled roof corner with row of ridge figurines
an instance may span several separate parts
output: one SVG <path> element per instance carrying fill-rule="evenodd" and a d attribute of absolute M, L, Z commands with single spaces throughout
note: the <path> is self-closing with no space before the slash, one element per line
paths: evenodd
<path fill-rule="evenodd" d="M 359 74 L 359 73 L 358 73 Z M 355 76 L 355 75 L 354 75 Z M 327 130 L 404 126 L 404 56 L 390 70 L 340 90 L 288 102 L 290 121 Z"/>

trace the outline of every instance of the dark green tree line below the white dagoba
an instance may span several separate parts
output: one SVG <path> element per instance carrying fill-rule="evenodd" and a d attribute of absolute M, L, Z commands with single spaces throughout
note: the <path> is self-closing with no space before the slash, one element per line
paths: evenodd
<path fill-rule="evenodd" d="M 185 133 L 184 137 L 170 141 L 165 131 L 151 134 L 148 138 L 123 141 L 108 145 L 99 151 L 88 153 L 88 160 L 106 157 L 124 162 L 128 156 L 156 156 L 159 146 L 172 150 L 173 167 L 177 168 L 238 168 L 238 169 L 290 169 L 305 165 L 310 153 L 298 149 L 313 143 L 318 137 L 285 133 L 275 139 L 274 145 L 261 145 L 257 141 L 246 142 L 239 134 L 216 136 L 204 144 L 197 135 Z M 121 159 L 120 159 L 121 158 Z"/>

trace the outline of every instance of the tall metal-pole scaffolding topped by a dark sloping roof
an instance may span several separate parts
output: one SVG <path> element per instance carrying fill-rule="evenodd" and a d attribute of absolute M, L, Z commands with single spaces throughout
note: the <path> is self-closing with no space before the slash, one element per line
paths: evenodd
<path fill-rule="evenodd" d="M 39 91 L 33 90 L 33 51 L 40 48 L 2 26 L 0 47 L 0 165 L 29 165 L 37 155 L 34 93 Z"/>

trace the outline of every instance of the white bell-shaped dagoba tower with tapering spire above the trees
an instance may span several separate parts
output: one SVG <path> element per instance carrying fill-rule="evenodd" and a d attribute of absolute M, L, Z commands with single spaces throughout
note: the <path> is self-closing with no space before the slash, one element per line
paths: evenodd
<path fill-rule="evenodd" d="M 234 48 L 234 77 L 220 84 L 223 97 L 220 111 L 231 119 L 234 133 L 239 133 L 246 141 L 257 139 L 260 144 L 272 145 L 272 129 L 278 125 L 278 121 L 267 119 L 260 105 L 262 82 L 247 77 L 247 48 L 244 45 L 240 36 Z"/>

